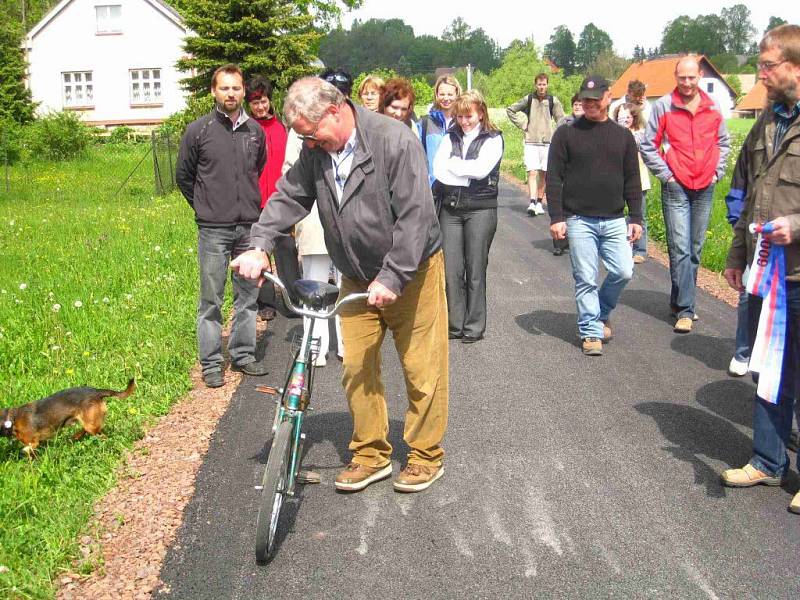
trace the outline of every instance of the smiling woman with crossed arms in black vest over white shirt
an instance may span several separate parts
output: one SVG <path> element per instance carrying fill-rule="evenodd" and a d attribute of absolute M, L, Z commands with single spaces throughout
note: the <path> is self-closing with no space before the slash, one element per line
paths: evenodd
<path fill-rule="evenodd" d="M 486 330 L 486 267 L 497 230 L 497 185 L 503 136 L 489 121 L 480 92 L 455 102 L 455 123 L 433 162 L 441 204 L 450 339 L 465 344 Z"/>

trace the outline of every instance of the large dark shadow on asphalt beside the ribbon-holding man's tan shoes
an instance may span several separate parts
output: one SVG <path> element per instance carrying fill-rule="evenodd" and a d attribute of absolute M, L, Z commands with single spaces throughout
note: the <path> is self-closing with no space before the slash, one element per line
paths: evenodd
<path fill-rule="evenodd" d="M 705 386 L 708 387 L 708 386 Z M 705 389 L 701 388 L 698 395 Z M 750 459 L 752 441 L 727 419 L 705 410 L 670 402 L 644 402 L 636 405 L 640 413 L 652 417 L 671 445 L 663 447 L 694 469 L 694 481 L 713 498 L 725 496 L 719 472 L 706 459 L 739 467 Z"/>

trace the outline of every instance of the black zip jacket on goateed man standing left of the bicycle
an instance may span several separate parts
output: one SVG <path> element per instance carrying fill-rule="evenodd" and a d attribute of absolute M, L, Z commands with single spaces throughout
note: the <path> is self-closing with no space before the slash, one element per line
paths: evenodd
<path fill-rule="evenodd" d="M 204 227 L 255 223 L 261 214 L 258 178 L 267 160 L 264 131 L 254 119 L 233 130 L 216 108 L 186 128 L 175 180 L 195 221 Z"/>

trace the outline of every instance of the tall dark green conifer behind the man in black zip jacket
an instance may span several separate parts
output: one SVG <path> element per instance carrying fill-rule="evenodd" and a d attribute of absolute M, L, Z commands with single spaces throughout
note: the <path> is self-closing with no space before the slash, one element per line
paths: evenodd
<path fill-rule="evenodd" d="M 341 0 L 347 8 L 362 0 Z M 211 74 L 226 63 L 261 73 L 285 88 L 313 72 L 323 29 L 338 19 L 336 0 L 179 0 L 173 2 L 195 35 L 186 38 L 187 57 L 178 68 L 196 96 L 208 94 Z"/>

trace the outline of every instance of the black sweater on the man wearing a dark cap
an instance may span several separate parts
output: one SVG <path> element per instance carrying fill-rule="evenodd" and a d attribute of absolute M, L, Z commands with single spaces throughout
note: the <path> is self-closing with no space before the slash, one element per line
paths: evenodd
<path fill-rule="evenodd" d="M 556 129 L 547 159 L 547 206 L 551 223 L 572 215 L 642 223 L 639 151 L 631 132 L 607 119 L 586 117 Z"/>

